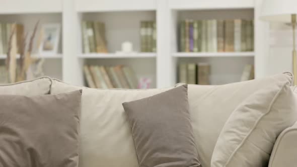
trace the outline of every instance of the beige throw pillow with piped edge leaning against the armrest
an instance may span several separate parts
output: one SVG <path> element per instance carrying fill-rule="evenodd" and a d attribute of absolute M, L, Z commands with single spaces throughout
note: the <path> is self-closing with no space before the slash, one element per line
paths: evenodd
<path fill-rule="evenodd" d="M 276 138 L 297 118 L 291 82 L 292 76 L 286 75 L 267 83 L 233 111 L 217 139 L 212 167 L 268 165 Z"/>

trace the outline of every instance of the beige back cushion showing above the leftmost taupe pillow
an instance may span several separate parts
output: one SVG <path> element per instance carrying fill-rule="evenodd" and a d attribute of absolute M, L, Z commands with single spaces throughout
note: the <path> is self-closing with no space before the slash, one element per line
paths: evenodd
<path fill-rule="evenodd" d="M 45 95 L 50 92 L 51 79 L 43 76 L 15 84 L 0 85 L 0 95 Z"/>

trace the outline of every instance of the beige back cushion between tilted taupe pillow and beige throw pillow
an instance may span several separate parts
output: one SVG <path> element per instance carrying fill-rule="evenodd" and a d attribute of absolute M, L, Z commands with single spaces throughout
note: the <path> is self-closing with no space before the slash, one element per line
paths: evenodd
<path fill-rule="evenodd" d="M 188 85 L 192 127 L 203 167 L 210 167 L 215 143 L 231 113 L 249 96 L 271 82 L 286 81 L 291 77 L 290 73 L 284 73 L 228 85 Z"/>

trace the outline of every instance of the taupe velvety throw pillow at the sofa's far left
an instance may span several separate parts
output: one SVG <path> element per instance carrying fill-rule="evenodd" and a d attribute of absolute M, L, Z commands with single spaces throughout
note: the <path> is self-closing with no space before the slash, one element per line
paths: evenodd
<path fill-rule="evenodd" d="M 81 92 L 0 95 L 0 164 L 77 167 Z"/>

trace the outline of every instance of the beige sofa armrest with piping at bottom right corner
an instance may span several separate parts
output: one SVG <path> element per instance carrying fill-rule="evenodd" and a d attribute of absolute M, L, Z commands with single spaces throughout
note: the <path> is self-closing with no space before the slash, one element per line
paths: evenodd
<path fill-rule="evenodd" d="M 297 165 L 297 122 L 277 137 L 268 167 Z"/>

